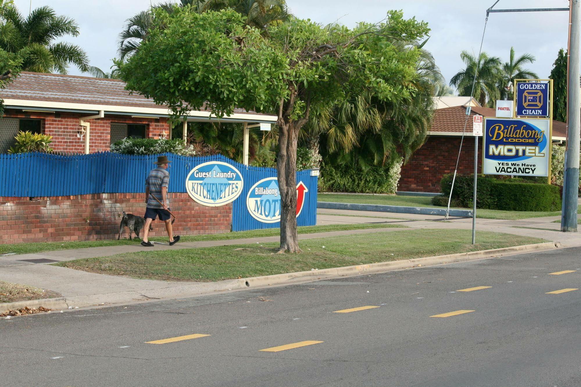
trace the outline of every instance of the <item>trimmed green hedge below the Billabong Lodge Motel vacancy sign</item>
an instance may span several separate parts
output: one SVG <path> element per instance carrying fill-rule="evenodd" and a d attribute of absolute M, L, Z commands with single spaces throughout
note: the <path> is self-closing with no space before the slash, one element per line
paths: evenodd
<path fill-rule="evenodd" d="M 432 203 L 447 205 L 453 175 L 444 175 L 440 181 L 442 196 L 436 196 Z M 451 205 L 472 207 L 474 175 L 457 175 Z M 500 180 L 494 177 L 478 177 L 476 207 L 505 211 L 557 211 L 561 209 L 560 188 L 555 185 L 540 184 L 522 178 Z M 446 198 L 443 200 L 442 198 Z"/>

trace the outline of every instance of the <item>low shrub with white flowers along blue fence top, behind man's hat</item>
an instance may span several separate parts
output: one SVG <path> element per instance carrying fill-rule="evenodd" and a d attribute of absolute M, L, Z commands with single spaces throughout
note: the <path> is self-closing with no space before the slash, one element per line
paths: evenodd
<path fill-rule="evenodd" d="M 111 152 L 123 153 L 124 155 L 174 153 L 181 156 L 205 156 L 199 154 L 202 149 L 204 149 L 203 146 L 199 144 L 196 146 L 186 145 L 183 139 L 170 140 L 164 138 L 124 138 L 111 145 Z"/>

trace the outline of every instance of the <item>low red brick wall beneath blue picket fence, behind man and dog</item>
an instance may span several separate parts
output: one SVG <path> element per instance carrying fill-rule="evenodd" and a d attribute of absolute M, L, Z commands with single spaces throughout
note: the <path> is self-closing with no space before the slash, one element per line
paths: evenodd
<path fill-rule="evenodd" d="M 231 230 L 232 204 L 202 206 L 187 193 L 170 193 L 170 202 L 172 212 L 178 217 L 174 223 L 175 235 L 218 234 Z M 99 193 L 32 200 L 0 197 L 0 243 L 117 238 L 119 214 L 123 211 L 144 216 L 144 194 Z M 153 222 L 153 230 L 152 236 L 167 236 L 160 220 Z M 128 237 L 127 228 L 121 237 Z"/>

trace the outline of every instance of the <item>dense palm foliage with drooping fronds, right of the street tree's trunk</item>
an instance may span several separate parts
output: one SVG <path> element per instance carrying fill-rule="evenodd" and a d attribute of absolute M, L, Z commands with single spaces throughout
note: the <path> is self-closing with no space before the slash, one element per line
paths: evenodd
<path fill-rule="evenodd" d="M 354 170 L 389 166 L 400 157 L 407 159 L 424 143 L 432 119 L 432 96 L 437 88 L 447 86 L 429 51 L 414 44 L 393 44 L 418 53 L 413 97 L 390 103 L 364 92 L 315 112 L 302 138 L 317 153 L 322 135 L 325 164 L 350 165 Z"/>

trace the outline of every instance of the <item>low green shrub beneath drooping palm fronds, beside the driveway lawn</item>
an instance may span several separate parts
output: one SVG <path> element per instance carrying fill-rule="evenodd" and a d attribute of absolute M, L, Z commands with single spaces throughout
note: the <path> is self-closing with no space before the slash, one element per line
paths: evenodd
<path fill-rule="evenodd" d="M 364 171 L 352 164 L 325 163 L 321 169 L 319 191 L 395 193 L 401 173 L 401 162 L 400 159 L 391 166 L 372 166 Z"/>

